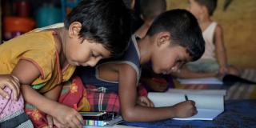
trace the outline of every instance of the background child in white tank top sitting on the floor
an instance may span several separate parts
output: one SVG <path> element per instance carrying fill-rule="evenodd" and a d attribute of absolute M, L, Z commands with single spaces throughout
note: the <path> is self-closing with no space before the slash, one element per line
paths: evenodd
<path fill-rule="evenodd" d="M 234 66 L 227 64 L 222 26 L 211 19 L 217 0 L 190 0 L 189 10 L 198 19 L 206 42 L 206 50 L 196 62 L 184 66 L 176 76 L 180 78 L 217 77 L 224 74 L 239 75 Z"/>

